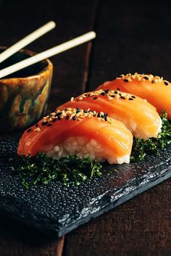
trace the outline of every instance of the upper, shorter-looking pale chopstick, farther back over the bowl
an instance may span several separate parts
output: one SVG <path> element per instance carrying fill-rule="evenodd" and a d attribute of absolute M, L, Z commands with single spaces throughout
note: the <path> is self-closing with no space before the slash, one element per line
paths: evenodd
<path fill-rule="evenodd" d="M 22 38 L 20 41 L 18 41 L 13 46 L 9 47 L 7 50 L 3 51 L 0 54 L 0 63 L 3 62 L 5 59 L 12 56 L 15 52 L 19 51 L 20 49 L 24 48 L 28 44 L 35 41 L 37 38 L 40 38 L 44 34 L 48 33 L 50 30 L 56 27 L 56 24 L 54 21 L 50 21 L 43 25 L 41 28 L 38 28 L 33 33 L 30 33 L 28 36 L 25 36 L 25 38 Z"/>

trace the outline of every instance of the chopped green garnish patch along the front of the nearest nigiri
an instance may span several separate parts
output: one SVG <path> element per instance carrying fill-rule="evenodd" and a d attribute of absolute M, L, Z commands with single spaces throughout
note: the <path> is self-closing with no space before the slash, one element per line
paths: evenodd
<path fill-rule="evenodd" d="M 36 154 L 34 157 L 17 157 L 12 170 L 20 173 L 22 185 L 29 188 L 36 184 L 47 184 L 52 180 L 62 181 L 65 186 L 73 182 L 81 182 L 94 176 L 101 176 L 102 165 L 91 161 L 90 158 L 82 159 L 75 156 L 54 160 L 46 154 Z"/>

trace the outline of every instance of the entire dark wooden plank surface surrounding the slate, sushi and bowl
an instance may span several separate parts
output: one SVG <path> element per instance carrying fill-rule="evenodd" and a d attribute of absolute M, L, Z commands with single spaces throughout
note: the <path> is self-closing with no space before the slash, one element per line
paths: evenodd
<path fill-rule="evenodd" d="M 171 4 L 167 1 L 0 0 L 1 45 L 49 20 L 57 28 L 28 46 L 43 51 L 89 30 L 92 43 L 52 57 L 49 110 L 120 73 L 171 80 Z M 171 182 L 156 186 L 61 239 L 0 216 L 0 256 L 170 256 Z"/>

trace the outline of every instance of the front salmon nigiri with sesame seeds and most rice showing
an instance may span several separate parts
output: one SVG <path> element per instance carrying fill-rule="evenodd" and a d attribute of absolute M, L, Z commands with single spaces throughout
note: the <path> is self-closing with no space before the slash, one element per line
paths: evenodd
<path fill-rule="evenodd" d="M 69 155 L 91 157 L 110 164 L 130 162 L 133 135 L 125 125 L 107 114 L 67 108 L 43 117 L 25 133 L 17 154 L 44 152 L 59 159 Z"/>

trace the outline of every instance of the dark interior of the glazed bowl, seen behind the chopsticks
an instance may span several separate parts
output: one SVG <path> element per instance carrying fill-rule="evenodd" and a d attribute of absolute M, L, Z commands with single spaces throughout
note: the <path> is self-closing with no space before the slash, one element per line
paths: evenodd
<path fill-rule="evenodd" d="M 4 51 L 4 49 L 0 48 L 0 53 L 2 51 Z M 20 62 L 23 59 L 28 59 L 28 57 L 30 57 L 30 56 L 31 55 L 29 54 L 28 51 L 19 51 L 16 54 L 9 57 L 8 59 L 6 59 L 4 62 L 0 63 L 0 70 L 2 70 L 5 67 L 9 67 L 10 65 L 13 65 L 17 62 Z M 7 75 L 5 78 L 25 78 L 30 75 L 36 75 L 36 74 L 40 73 L 48 65 L 49 65 L 49 63 L 46 60 L 43 60 L 34 65 L 31 65 L 30 67 L 26 67 L 20 71 L 17 71 L 16 73 Z"/>

